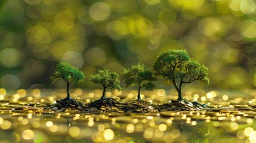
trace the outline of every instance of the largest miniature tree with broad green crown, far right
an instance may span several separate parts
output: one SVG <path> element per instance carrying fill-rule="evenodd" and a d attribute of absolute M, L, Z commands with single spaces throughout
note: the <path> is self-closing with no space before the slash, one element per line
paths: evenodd
<path fill-rule="evenodd" d="M 190 58 L 186 50 L 172 50 L 162 52 L 155 61 L 155 74 L 164 79 L 165 85 L 174 85 L 178 92 L 178 100 L 183 100 L 181 88 L 184 83 L 198 80 L 203 85 L 209 85 L 208 68 Z"/>

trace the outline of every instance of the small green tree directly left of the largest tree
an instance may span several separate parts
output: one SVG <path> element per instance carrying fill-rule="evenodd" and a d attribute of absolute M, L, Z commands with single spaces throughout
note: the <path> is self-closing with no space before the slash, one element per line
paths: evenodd
<path fill-rule="evenodd" d="M 146 68 L 143 64 L 132 65 L 131 69 L 124 69 L 122 72 L 124 75 L 126 87 L 128 86 L 138 86 L 137 100 L 141 101 L 140 89 L 145 88 L 148 91 L 153 91 L 156 89 L 156 85 L 152 82 L 156 81 L 156 77 L 153 76 L 152 71 Z"/>

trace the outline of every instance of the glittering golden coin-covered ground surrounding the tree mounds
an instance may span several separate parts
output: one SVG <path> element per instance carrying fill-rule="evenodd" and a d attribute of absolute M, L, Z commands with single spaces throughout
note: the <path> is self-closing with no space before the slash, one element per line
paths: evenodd
<path fill-rule="evenodd" d="M 73 89 L 84 102 L 100 90 Z M 145 101 L 161 104 L 175 91 L 143 92 Z M 211 111 L 160 113 L 88 113 L 44 110 L 64 98 L 65 90 L 0 89 L 0 142 L 256 142 L 256 91 L 184 91 L 184 97 L 212 107 Z M 135 100 L 136 91 L 107 92 L 107 97 Z"/>

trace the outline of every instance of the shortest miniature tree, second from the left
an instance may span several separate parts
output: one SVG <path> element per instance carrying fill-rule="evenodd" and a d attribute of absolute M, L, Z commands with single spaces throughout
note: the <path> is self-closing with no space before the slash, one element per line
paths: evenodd
<path fill-rule="evenodd" d="M 103 94 L 100 100 L 104 100 L 106 98 L 107 88 L 111 90 L 118 89 L 118 91 L 122 90 L 119 75 L 116 72 L 110 72 L 109 70 L 98 70 L 97 74 L 89 77 L 89 81 L 103 86 Z"/>

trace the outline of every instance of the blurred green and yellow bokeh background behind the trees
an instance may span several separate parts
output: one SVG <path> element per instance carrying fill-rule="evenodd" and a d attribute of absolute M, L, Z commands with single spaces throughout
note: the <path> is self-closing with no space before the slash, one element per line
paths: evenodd
<path fill-rule="evenodd" d="M 1 0 L 0 7 L 0 88 L 65 88 L 49 80 L 61 60 L 86 77 L 138 62 L 152 68 L 167 49 L 186 49 L 205 64 L 209 88 L 256 86 L 252 0 Z M 78 86 L 92 87 L 87 79 Z"/>

